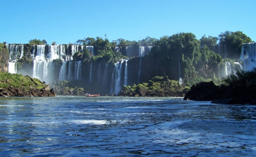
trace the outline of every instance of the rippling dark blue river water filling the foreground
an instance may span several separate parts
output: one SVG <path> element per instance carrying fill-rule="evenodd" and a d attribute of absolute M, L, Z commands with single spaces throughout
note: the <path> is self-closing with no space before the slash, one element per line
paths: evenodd
<path fill-rule="evenodd" d="M 255 105 L 182 99 L 0 98 L 0 156 L 255 156 Z"/>

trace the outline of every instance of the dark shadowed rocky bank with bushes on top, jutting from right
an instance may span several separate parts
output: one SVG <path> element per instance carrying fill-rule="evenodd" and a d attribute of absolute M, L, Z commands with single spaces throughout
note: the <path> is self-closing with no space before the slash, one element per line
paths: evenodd
<path fill-rule="evenodd" d="M 224 78 L 221 85 L 212 81 L 191 86 L 184 100 L 212 101 L 216 104 L 256 104 L 256 69 L 238 71 Z"/>

